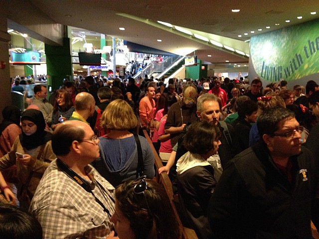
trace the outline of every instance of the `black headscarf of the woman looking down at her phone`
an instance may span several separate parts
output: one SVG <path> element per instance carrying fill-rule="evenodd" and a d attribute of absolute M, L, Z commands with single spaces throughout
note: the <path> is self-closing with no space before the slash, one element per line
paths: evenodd
<path fill-rule="evenodd" d="M 30 120 L 36 125 L 36 131 L 32 135 L 26 135 L 23 130 L 20 135 L 20 142 L 26 149 L 36 148 L 47 141 L 51 140 L 52 134 L 44 131 L 45 120 L 42 112 L 34 109 L 26 110 L 22 113 L 21 122 L 23 120 Z"/>

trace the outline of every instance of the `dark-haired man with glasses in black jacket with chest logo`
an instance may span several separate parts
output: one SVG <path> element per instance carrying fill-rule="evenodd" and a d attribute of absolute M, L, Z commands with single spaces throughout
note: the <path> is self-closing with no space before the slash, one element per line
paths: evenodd
<path fill-rule="evenodd" d="M 261 140 L 236 155 L 210 199 L 217 239 L 312 239 L 319 227 L 319 169 L 301 146 L 302 127 L 288 109 L 270 108 L 257 120 Z"/>

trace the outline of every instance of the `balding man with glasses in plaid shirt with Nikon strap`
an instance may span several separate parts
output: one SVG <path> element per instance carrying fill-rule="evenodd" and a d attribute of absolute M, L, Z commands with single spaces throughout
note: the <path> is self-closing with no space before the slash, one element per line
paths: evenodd
<path fill-rule="evenodd" d="M 111 233 L 114 187 L 90 165 L 100 156 L 98 142 L 79 120 L 54 130 L 52 149 L 58 158 L 45 171 L 29 209 L 45 239 L 106 238 Z"/>

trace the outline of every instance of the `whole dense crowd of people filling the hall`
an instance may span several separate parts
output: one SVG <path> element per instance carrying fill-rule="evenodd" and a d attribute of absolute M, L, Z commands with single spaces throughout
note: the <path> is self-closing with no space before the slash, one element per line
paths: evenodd
<path fill-rule="evenodd" d="M 2 112 L 2 201 L 29 212 L 45 239 L 181 238 L 139 125 L 199 239 L 312 238 L 315 81 L 290 90 L 286 81 L 263 88 L 259 78 L 103 79 L 65 81 L 48 100 L 37 84 L 21 118 L 13 106 Z"/>

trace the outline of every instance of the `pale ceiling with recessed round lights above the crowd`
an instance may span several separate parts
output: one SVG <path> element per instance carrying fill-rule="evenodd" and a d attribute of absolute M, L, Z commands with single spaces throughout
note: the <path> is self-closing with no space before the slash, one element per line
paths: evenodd
<path fill-rule="evenodd" d="M 18 4 L 19 1 L 25 3 L 26 0 L 13 2 Z M 219 40 L 240 50 L 249 49 L 249 43 L 244 41 L 249 40 L 252 35 L 319 17 L 318 0 L 28 1 L 28 7 L 37 8 L 37 11 L 46 14 L 57 23 L 120 37 L 175 54 L 193 54 L 195 51 L 198 59 L 216 65 L 225 64 L 226 60 L 230 63 L 248 64 L 248 58 L 214 47 L 193 36 L 160 25 L 157 21 L 203 32 L 202 34 L 210 39 Z M 232 12 L 231 9 L 240 9 L 240 12 Z M 318 13 L 311 15 L 310 12 L 313 11 Z M 297 19 L 297 16 L 303 18 Z M 287 23 L 285 20 L 290 22 Z M 276 23 L 279 25 L 275 25 Z M 266 26 L 270 28 L 267 29 Z M 125 31 L 119 30 L 119 27 L 125 27 Z M 157 39 L 162 41 L 158 42 Z"/>

